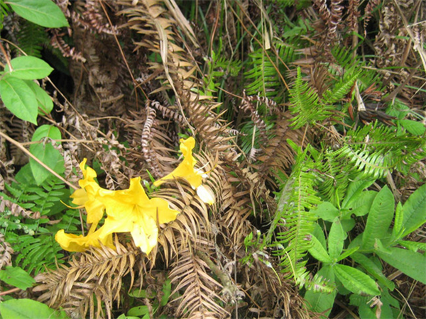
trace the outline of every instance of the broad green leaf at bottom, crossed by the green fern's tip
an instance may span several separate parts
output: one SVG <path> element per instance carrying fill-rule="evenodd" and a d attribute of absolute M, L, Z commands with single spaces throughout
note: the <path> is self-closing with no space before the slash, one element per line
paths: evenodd
<path fill-rule="evenodd" d="M 334 283 L 334 272 L 332 267 L 325 265 L 317 274 L 329 279 L 331 283 Z M 328 318 L 329 313 L 332 311 L 336 294 L 337 291 L 324 293 L 308 290 L 305 293 L 305 300 L 307 301 L 307 305 L 310 307 L 310 310 L 315 311 L 316 313 L 322 313 L 325 318 Z"/>

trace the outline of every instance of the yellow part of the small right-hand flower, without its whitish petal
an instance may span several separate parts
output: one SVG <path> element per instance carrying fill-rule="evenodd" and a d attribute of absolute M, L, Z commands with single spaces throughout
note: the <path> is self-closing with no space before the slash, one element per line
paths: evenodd
<path fill-rule="evenodd" d="M 166 175 L 165 177 L 158 179 L 154 182 L 155 186 L 160 186 L 167 179 L 176 179 L 178 177 L 185 179 L 193 189 L 197 189 L 202 184 L 202 172 L 195 169 L 197 159 L 192 156 L 192 149 L 195 147 L 194 138 L 187 138 L 186 140 L 180 140 L 180 151 L 184 159 L 173 172 Z"/>

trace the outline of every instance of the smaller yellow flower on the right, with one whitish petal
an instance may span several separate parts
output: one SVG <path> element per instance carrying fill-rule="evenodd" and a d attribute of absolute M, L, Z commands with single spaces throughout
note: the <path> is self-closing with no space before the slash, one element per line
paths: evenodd
<path fill-rule="evenodd" d="M 204 203 L 209 203 L 212 205 L 214 203 L 214 195 L 210 189 L 207 189 L 202 185 L 202 178 L 205 177 L 204 173 L 200 169 L 195 169 L 195 164 L 197 164 L 197 159 L 192 156 L 192 149 L 195 147 L 194 138 L 190 137 L 186 140 L 180 140 L 180 151 L 183 155 L 182 162 L 176 167 L 176 169 L 170 174 L 154 181 L 155 186 L 160 186 L 167 179 L 176 179 L 178 177 L 185 179 L 192 189 L 197 190 L 197 195 L 201 198 Z"/>

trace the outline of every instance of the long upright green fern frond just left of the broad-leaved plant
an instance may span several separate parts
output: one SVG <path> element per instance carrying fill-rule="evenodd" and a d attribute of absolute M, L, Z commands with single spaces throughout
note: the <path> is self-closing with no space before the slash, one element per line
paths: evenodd
<path fill-rule="evenodd" d="M 293 142 L 289 141 L 290 144 Z M 280 258 L 281 271 L 287 276 L 302 278 L 306 264 L 305 256 L 310 248 L 309 236 L 314 230 L 317 217 L 310 209 L 321 203 L 314 189 L 315 174 L 312 174 L 312 159 L 305 152 L 298 151 L 293 173 L 280 191 L 278 209 L 273 218 L 267 239 L 278 228 L 275 255 Z"/>

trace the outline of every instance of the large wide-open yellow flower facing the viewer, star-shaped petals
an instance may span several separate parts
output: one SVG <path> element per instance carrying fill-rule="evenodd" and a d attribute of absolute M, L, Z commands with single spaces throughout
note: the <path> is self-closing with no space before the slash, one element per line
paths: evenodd
<path fill-rule="evenodd" d="M 157 245 L 158 225 L 175 220 L 179 214 L 168 206 L 168 201 L 149 199 L 141 186 L 141 177 L 131 179 L 129 189 L 124 191 L 101 189 L 97 199 L 106 207 L 108 216 L 99 237 L 130 232 L 136 246 L 146 254 Z"/>

